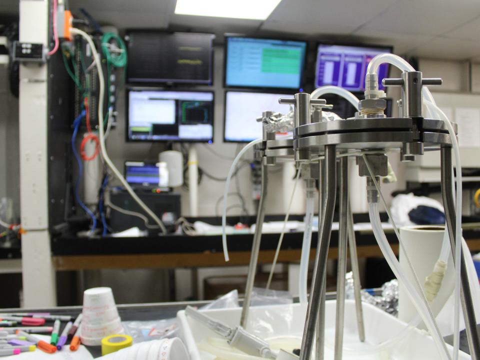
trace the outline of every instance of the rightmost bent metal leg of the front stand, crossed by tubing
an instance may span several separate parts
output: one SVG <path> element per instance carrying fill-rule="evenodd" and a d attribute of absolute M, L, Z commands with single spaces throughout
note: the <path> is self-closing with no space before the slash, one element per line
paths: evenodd
<path fill-rule="evenodd" d="M 461 171 L 461 169 L 457 169 Z M 446 226 L 450 237 L 451 252 L 455 253 L 455 202 L 452 192 L 452 169 L 451 169 L 451 147 L 442 146 L 440 148 L 440 186 L 441 197 L 443 200 L 443 207 L 445 209 Z M 461 186 L 461 184 L 458 184 Z M 461 209 L 458 209 L 461 212 Z M 453 263 L 455 256 L 453 255 Z M 473 307 L 473 300 L 471 298 L 470 284 L 468 282 L 468 275 L 466 272 L 465 259 L 463 257 L 463 250 L 460 257 L 460 279 L 461 279 L 461 309 L 463 312 L 463 319 L 465 321 L 466 336 L 468 339 L 468 347 L 470 348 L 470 355 L 473 360 L 480 360 L 480 338 L 475 320 L 475 310 Z M 457 264 L 454 263 L 455 266 Z"/>

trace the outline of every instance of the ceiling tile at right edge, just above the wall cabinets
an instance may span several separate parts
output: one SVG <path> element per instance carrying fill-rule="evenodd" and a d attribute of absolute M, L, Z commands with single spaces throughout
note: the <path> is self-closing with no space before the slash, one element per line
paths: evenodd
<path fill-rule="evenodd" d="M 480 56 L 477 41 L 438 36 L 408 52 L 409 55 L 449 60 L 466 60 Z"/>

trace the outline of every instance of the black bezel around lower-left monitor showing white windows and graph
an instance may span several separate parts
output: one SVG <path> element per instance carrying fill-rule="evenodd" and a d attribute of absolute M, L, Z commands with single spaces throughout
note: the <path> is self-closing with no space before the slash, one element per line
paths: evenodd
<path fill-rule="evenodd" d="M 198 139 L 159 139 L 159 140 L 140 140 L 130 139 L 128 136 L 128 124 L 130 122 L 129 116 L 129 101 L 130 91 L 168 91 L 168 92 L 209 92 L 212 94 L 212 112 L 211 112 L 211 139 L 198 140 Z M 126 142 L 198 142 L 198 143 L 213 143 L 215 138 L 215 91 L 213 90 L 201 90 L 201 89 L 186 89 L 186 88 L 170 88 L 170 87 L 152 87 L 152 86 L 126 86 L 125 87 L 125 140 Z M 210 142 L 211 141 L 211 142 Z"/>

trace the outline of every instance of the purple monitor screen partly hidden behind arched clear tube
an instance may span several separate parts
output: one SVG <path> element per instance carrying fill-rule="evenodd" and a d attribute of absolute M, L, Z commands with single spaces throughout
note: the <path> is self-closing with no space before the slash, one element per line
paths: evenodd
<path fill-rule="evenodd" d="M 364 91 L 366 67 L 370 60 L 381 53 L 391 52 L 389 46 L 349 46 L 318 44 L 315 87 L 336 85 L 349 91 Z M 378 68 L 378 84 L 388 75 L 388 64 Z"/>

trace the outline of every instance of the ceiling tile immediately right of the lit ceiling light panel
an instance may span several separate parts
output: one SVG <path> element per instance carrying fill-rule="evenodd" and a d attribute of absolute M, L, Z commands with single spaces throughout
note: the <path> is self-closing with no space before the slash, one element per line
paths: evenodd
<path fill-rule="evenodd" d="M 347 34 L 395 0 L 282 0 L 262 30 L 302 34 Z"/>

